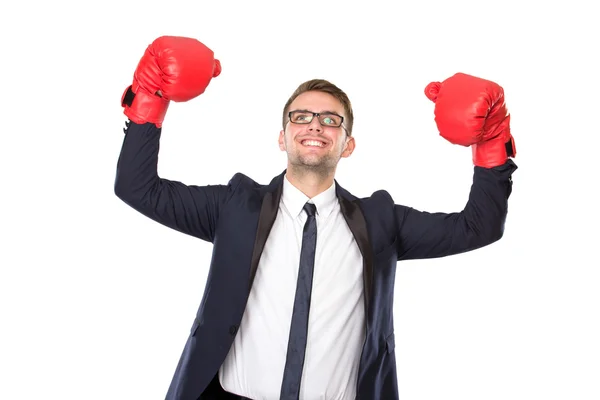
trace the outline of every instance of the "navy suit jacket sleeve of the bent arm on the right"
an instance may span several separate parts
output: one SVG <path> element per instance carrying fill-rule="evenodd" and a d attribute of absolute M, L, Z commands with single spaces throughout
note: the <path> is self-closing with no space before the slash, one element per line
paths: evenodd
<path fill-rule="evenodd" d="M 394 205 L 398 260 L 444 257 L 487 246 L 504 234 L 512 192 L 512 160 L 495 168 L 474 167 L 465 208 L 456 213 L 429 213 Z"/>

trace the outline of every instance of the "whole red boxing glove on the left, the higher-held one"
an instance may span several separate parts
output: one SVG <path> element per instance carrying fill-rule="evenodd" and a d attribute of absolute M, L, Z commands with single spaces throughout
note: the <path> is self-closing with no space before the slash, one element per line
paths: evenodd
<path fill-rule="evenodd" d="M 169 102 L 185 102 L 221 73 L 212 50 L 196 39 L 161 36 L 148 46 L 123 93 L 123 113 L 133 122 L 161 127 Z"/>

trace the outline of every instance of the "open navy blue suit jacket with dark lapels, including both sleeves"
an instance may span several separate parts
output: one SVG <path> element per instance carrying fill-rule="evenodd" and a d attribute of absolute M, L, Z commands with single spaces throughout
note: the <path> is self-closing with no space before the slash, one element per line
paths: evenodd
<path fill-rule="evenodd" d="M 227 185 L 184 185 L 157 174 L 161 129 L 130 122 L 125 133 L 116 195 L 167 227 L 213 243 L 204 296 L 166 399 L 218 398 L 209 392 L 219 387 L 217 372 L 242 320 L 285 171 L 268 185 L 239 173 Z M 511 160 L 493 169 L 474 167 L 468 201 L 456 213 L 397 205 L 383 190 L 357 198 L 336 182 L 341 211 L 364 260 L 366 339 L 357 399 L 398 398 L 393 320 L 397 261 L 449 256 L 500 239 L 516 168 Z"/>

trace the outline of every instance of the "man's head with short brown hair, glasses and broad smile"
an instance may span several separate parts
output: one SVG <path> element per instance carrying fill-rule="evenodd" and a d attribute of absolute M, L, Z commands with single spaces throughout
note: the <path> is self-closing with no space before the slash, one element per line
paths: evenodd
<path fill-rule="evenodd" d="M 298 86 L 283 109 L 279 134 L 288 167 L 335 171 L 340 158 L 354 150 L 353 122 L 350 100 L 337 86 L 322 79 Z"/>

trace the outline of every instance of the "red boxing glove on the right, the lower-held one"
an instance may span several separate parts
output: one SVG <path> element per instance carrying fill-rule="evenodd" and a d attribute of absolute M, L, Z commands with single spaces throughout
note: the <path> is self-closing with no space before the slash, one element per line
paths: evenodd
<path fill-rule="evenodd" d="M 425 95 L 435 103 L 435 123 L 449 142 L 471 146 L 473 164 L 492 168 L 515 157 L 510 115 L 498 84 L 463 73 L 431 82 Z"/>

